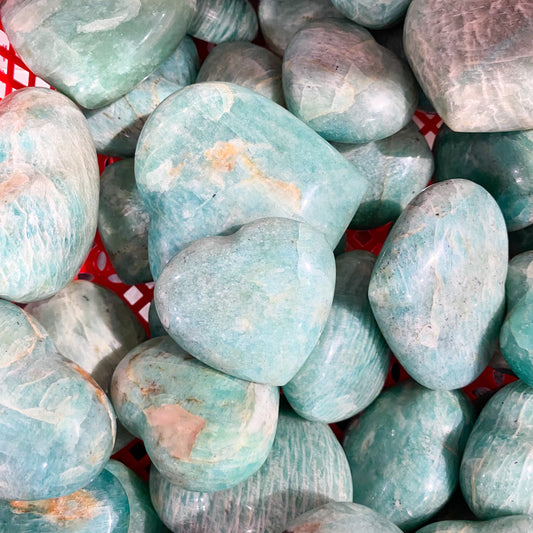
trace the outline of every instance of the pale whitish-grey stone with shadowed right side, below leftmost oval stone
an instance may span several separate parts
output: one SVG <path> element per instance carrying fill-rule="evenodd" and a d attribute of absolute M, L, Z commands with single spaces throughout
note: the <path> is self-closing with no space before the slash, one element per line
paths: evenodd
<path fill-rule="evenodd" d="M 77 280 L 26 311 L 46 329 L 57 349 L 109 391 L 120 360 L 146 338 L 133 311 L 110 289 Z"/>

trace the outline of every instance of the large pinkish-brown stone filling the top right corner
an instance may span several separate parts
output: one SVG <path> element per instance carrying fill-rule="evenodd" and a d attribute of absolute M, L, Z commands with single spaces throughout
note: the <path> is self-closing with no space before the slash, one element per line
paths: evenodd
<path fill-rule="evenodd" d="M 422 89 L 452 130 L 533 128 L 530 0 L 413 0 L 404 35 Z"/>

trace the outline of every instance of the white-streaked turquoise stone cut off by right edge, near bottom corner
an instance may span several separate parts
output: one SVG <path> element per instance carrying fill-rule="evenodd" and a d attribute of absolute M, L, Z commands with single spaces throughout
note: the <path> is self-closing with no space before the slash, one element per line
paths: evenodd
<path fill-rule="evenodd" d="M 515 381 L 481 411 L 461 463 L 461 489 L 481 520 L 533 512 L 533 389 Z"/>

